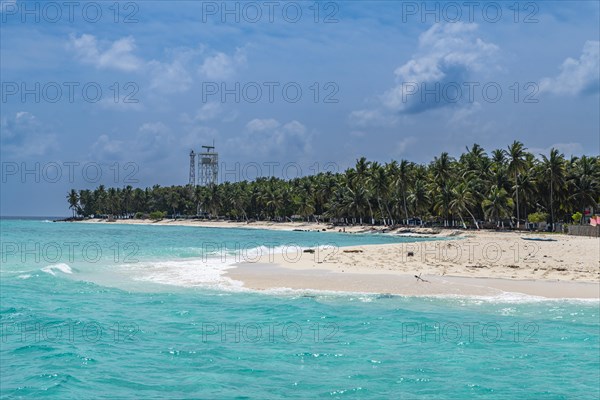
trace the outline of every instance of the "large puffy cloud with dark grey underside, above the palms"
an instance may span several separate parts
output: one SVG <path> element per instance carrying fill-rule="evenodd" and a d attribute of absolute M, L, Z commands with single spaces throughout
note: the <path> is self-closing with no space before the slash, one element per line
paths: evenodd
<path fill-rule="evenodd" d="M 499 50 L 477 34 L 477 24 L 466 23 L 435 24 L 422 33 L 418 53 L 394 71 L 396 86 L 382 96 L 383 104 L 415 114 L 466 100 L 467 96 L 457 100 L 460 92 L 454 88 L 468 90 L 463 83 L 489 66 Z M 424 88 L 436 90 L 439 97 L 423 96 Z"/>

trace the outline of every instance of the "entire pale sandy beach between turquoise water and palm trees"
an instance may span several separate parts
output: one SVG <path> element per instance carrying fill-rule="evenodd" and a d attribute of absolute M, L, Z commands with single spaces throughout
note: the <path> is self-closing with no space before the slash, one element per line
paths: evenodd
<path fill-rule="evenodd" d="M 307 222 L 117 220 L 110 223 L 335 233 L 342 229 Z M 419 296 L 496 296 L 511 292 L 545 298 L 600 298 L 597 238 L 420 227 L 345 228 L 346 233 L 445 240 L 300 250 L 300 253 L 295 249 L 290 254 L 269 256 L 268 260 L 242 260 L 227 269 L 224 277 L 258 291 L 290 288 Z M 531 240 L 542 238 L 545 240 Z M 415 275 L 430 282 L 418 281 Z"/>

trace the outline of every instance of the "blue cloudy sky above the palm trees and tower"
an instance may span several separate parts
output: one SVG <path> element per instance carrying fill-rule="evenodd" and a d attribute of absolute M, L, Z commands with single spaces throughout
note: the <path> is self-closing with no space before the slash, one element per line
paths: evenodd
<path fill-rule="evenodd" d="M 185 184 L 213 140 L 229 179 L 515 139 L 599 153 L 597 1 L 270 4 L 2 0 L 0 214 Z"/>

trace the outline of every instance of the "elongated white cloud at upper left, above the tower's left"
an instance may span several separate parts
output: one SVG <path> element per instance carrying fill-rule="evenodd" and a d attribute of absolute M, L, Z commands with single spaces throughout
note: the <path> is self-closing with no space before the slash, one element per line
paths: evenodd
<path fill-rule="evenodd" d="M 79 61 L 99 69 L 136 71 L 142 66 L 141 60 L 133 55 L 135 40 L 131 36 L 101 44 L 93 35 L 71 35 L 68 47 L 75 51 Z"/>

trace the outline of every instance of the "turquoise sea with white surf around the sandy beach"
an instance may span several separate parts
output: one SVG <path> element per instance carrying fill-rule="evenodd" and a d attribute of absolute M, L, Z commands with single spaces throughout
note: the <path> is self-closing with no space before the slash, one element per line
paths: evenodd
<path fill-rule="evenodd" d="M 408 240 L 3 219 L 0 398 L 600 397 L 598 301 L 223 277 L 269 251 Z"/>

